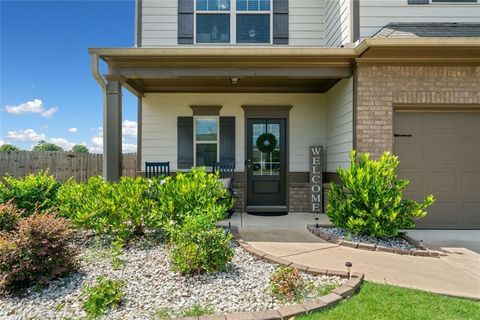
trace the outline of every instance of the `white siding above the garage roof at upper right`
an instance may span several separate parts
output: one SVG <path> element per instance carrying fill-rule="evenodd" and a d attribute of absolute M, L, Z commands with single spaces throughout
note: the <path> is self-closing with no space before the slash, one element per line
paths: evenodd
<path fill-rule="evenodd" d="M 360 1 L 360 37 L 393 22 L 480 22 L 480 3 L 408 4 L 407 0 Z"/>

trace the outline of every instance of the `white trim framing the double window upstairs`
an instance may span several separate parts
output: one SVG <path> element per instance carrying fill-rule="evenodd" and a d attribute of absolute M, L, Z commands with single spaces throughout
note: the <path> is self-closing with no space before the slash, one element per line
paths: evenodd
<path fill-rule="evenodd" d="M 273 45 L 273 0 L 270 1 L 270 10 L 237 10 L 237 0 L 230 0 L 230 10 L 197 10 L 197 1 L 193 3 L 193 44 L 202 46 L 269 46 Z M 230 43 L 197 42 L 197 14 L 227 14 L 230 15 Z M 270 42 L 237 43 L 237 14 L 269 14 L 270 15 Z"/>

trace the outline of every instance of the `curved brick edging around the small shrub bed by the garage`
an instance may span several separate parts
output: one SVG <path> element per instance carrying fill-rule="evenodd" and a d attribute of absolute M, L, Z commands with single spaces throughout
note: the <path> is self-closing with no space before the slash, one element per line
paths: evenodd
<path fill-rule="evenodd" d="M 329 225 L 319 225 L 319 227 L 322 228 L 331 228 Z M 349 247 L 353 249 L 360 249 L 360 250 L 367 250 L 367 251 L 380 251 L 380 252 L 389 252 L 389 253 L 395 253 L 395 254 L 402 254 L 402 255 L 411 255 L 411 256 L 417 256 L 417 257 L 433 257 L 433 258 L 439 258 L 442 254 L 439 251 L 436 250 L 431 250 L 427 248 L 424 244 L 412 239 L 411 237 L 404 235 L 402 236 L 403 239 L 405 239 L 408 243 L 415 247 L 420 247 L 422 250 L 402 250 L 402 249 L 395 249 L 395 248 L 389 248 L 385 246 L 378 246 L 375 244 L 369 244 L 369 243 L 362 243 L 362 242 L 354 242 L 354 241 L 348 241 L 341 239 L 337 236 L 325 233 L 320 231 L 315 225 L 309 224 L 307 226 L 308 231 L 310 231 L 312 234 L 316 235 L 317 237 L 331 242 L 335 243 L 339 246 L 344 246 L 344 247 Z"/>

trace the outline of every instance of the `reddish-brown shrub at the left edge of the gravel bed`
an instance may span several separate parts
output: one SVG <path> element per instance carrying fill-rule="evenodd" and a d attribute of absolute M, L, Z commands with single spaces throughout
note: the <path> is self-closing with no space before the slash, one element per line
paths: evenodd
<path fill-rule="evenodd" d="M 76 269 L 76 252 L 68 246 L 69 222 L 50 214 L 22 219 L 18 231 L 0 237 L 0 289 L 15 291 Z"/>

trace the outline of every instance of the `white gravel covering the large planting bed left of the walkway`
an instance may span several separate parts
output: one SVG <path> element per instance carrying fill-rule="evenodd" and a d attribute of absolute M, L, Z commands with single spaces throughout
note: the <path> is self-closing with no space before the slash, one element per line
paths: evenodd
<path fill-rule="evenodd" d="M 211 306 L 217 314 L 261 311 L 281 305 L 269 292 L 269 277 L 275 265 L 254 258 L 238 246 L 230 270 L 198 276 L 171 272 L 163 244 L 139 243 L 126 249 L 121 270 L 112 270 L 108 253 L 89 245 L 82 250 L 80 272 L 56 280 L 47 288 L 29 289 L 21 298 L 0 297 L 0 318 L 83 317 L 86 314 L 81 307 L 82 287 L 94 283 L 102 274 L 127 284 L 122 305 L 106 319 L 155 319 L 161 309 L 178 312 L 198 304 Z M 345 282 L 339 277 L 303 276 L 316 285 L 340 286 Z"/>

